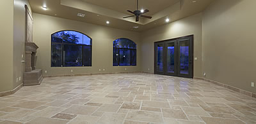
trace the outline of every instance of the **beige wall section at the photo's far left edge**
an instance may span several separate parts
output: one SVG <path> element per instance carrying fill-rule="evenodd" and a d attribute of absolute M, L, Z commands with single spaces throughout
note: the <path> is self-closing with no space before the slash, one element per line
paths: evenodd
<path fill-rule="evenodd" d="M 0 4 L 0 92 L 13 88 L 13 1 Z"/>

